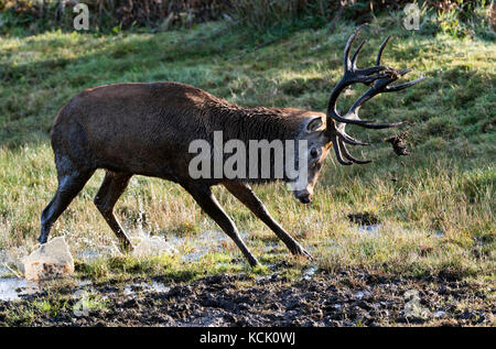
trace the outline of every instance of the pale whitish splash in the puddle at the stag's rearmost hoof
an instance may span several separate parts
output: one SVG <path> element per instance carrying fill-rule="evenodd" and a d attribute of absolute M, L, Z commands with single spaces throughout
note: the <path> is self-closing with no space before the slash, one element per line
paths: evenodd
<path fill-rule="evenodd" d="M 43 243 L 22 262 L 24 277 L 29 281 L 64 277 L 74 273 L 74 259 L 63 237 Z"/>

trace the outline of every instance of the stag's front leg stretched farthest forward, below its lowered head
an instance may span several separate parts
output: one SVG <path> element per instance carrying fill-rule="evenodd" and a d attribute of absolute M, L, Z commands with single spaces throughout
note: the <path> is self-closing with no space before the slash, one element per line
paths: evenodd
<path fill-rule="evenodd" d="M 312 255 L 298 243 L 288 232 L 282 229 L 282 227 L 273 220 L 273 218 L 269 215 L 269 211 L 263 206 L 262 201 L 255 195 L 251 190 L 250 186 L 245 183 L 237 182 L 228 182 L 224 183 L 224 186 L 236 196 L 246 207 L 248 207 L 255 216 L 257 216 L 261 221 L 263 221 L 276 235 L 279 239 L 284 242 L 288 249 L 293 254 L 302 254 L 309 259 L 312 259 Z"/>

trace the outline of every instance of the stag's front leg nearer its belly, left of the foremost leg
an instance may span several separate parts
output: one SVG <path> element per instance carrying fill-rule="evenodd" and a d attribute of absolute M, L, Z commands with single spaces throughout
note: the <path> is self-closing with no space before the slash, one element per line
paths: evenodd
<path fill-rule="evenodd" d="M 242 254 L 245 254 L 248 263 L 250 263 L 251 266 L 259 265 L 257 259 L 248 250 L 245 242 L 242 242 L 235 223 L 223 210 L 214 194 L 212 194 L 211 188 L 208 186 L 197 184 L 183 184 L 182 186 L 193 196 L 202 209 L 215 220 L 224 232 L 233 239 L 233 241 L 241 250 Z"/>

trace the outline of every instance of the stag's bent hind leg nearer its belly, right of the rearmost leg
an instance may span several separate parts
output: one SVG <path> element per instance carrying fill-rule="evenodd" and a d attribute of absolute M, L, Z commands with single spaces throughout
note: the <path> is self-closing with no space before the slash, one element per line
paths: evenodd
<path fill-rule="evenodd" d="M 117 220 L 116 215 L 114 214 L 114 206 L 126 190 L 131 176 L 132 175 L 128 173 L 107 171 L 105 173 L 104 182 L 101 183 L 101 186 L 94 199 L 96 207 L 116 233 L 120 246 L 125 251 L 130 251 L 132 246 L 125 230 Z"/>

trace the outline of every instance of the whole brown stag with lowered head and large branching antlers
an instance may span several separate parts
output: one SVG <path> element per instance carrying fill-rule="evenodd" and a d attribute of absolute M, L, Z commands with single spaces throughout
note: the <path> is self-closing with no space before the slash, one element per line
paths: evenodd
<path fill-rule="evenodd" d="M 366 24 L 364 24 L 366 25 Z M 115 232 L 123 251 L 132 244 L 114 212 L 114 207 L 133 175 L 158 177 L 182 186 L 220 229 L 235 242 L 251 266 L 257 258 L 242 241 L 234 221 L 212 193 L 224 186 L 258 219 L 267 225 L 295 255 L 313 257 L 269 214 L 255 195 L 250 178 L 192 178 L 188 162 L 194 154 L 188 144 L 203 139 L 212 142 L 214 131 L 223 131 L 226 140 L 304 140 L 308 160 L 304 185 L 293 190 L 295 199 L 309 204 L 322 164 L 331 148 L 342 165 L 367 164 L 354 157 L 349 145 L 369 145 L 345 132 L 346 124 L 367 129 L 399 127 L 403 122 L 378 123 L 360 119 L 358 111 L 370 98 L 413 86 L 424 77 L 391 85 L 412 69 L 399 70 L 381 65 L 382 52 L 390 36 L 379 47 L 376 65 L 358 68 L 357 57 L 365 41 L 352 57 L 352 45 L 364 25 L 347 40 L 344 50 L 344 75 L 331 92 L 326 113 L 295 108 L 240 107 L 190 85 L 163 83 L 127 83 L 88 88 L 74 96 L 57 113 L 51 130 L 51 144 L 57 171 L 57 190 L 41 215 L 39 242 L 46 243 L 50 230 L 71 201 L 98 168 L 105 177 L 94 203 Z M 342 114 L 337 110 L 339 95 L 354 84 L 369 89 Z M 277 181 L 269 177 L 262 182 Z M 282 178 L 282 181 L 289 181 Z"/>

